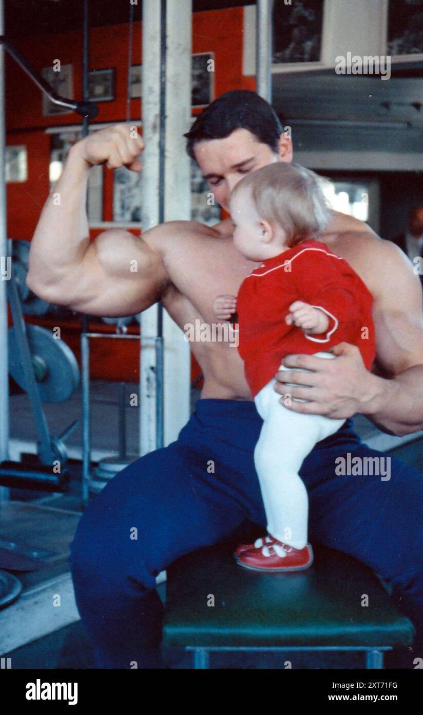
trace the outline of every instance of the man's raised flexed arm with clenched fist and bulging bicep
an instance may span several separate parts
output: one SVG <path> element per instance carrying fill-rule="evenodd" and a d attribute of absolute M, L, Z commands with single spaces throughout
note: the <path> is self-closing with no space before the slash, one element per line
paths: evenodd
<path fill-rule="evenodd" d="M 29 252 L 26 279 L 44 300 L 101 316 L 134 315 L 160 299 L 168 275 L 155 240 L 163 227 L 142 238 L 113 229 L 89 240 L 88 172 L 94 164 L 141 169 L 140 137 L 128 124 L 91 134 L 69 152 L 60 179 L 44 206 Z"/>

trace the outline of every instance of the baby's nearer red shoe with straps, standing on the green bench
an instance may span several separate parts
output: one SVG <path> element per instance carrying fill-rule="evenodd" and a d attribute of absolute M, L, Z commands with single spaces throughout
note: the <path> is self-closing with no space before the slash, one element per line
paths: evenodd
<path fill-rule="evenodd" d="M 294 548 L 274 539 L 268 545 L 243 551 L 238 563 L 253 571 L 302 571 L 312 565 L 313 551 L 310 543 L 304 548 Z"/>

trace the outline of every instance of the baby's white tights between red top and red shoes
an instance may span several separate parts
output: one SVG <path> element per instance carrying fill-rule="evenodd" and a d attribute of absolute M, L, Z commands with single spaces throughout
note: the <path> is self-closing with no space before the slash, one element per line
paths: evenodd
<path fill-rule="evenodd" d="M 330 352 L 317 352 L 315 356 L 335 358 Z M 287 370 L 283 365 L 279 369 Z M 289 546 L 303 548 L 307 543 L 308 496 L 298 472 L 315 444 L 337 432 L 345 420 L 288 410 L 280 403 L 274 384 L 275 378 L 272 378 L 254 399 L 264 420 L 254 450 L 255 469 L 268 533 Z"/>

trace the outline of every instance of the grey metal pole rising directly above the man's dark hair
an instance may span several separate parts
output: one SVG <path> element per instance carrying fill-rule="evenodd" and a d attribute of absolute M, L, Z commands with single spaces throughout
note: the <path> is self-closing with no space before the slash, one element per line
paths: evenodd
<path fill-rule="evenodd" d="M 256 89 L 272 104 L 272 13 L 273 0 L 257 0 Z"/>

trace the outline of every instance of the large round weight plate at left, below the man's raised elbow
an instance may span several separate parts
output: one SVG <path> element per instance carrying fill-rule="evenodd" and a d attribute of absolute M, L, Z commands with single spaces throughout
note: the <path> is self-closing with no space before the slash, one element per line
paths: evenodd
<path fill-rule="evenodd" d="M 14 327 L 9 327 L 9 373 L 16 383 L 28 392 L 25 385 L 24 369 L 19 355 Z M 63 340 L 57 340 L 53 333 L 40 325 L 26 324 L 26 337 L 31 357 L 43 370 L 36 370 L 42 402 L 58 403 L 68 400 L 79 384 L 79 368 L 71 348 Z"/>

